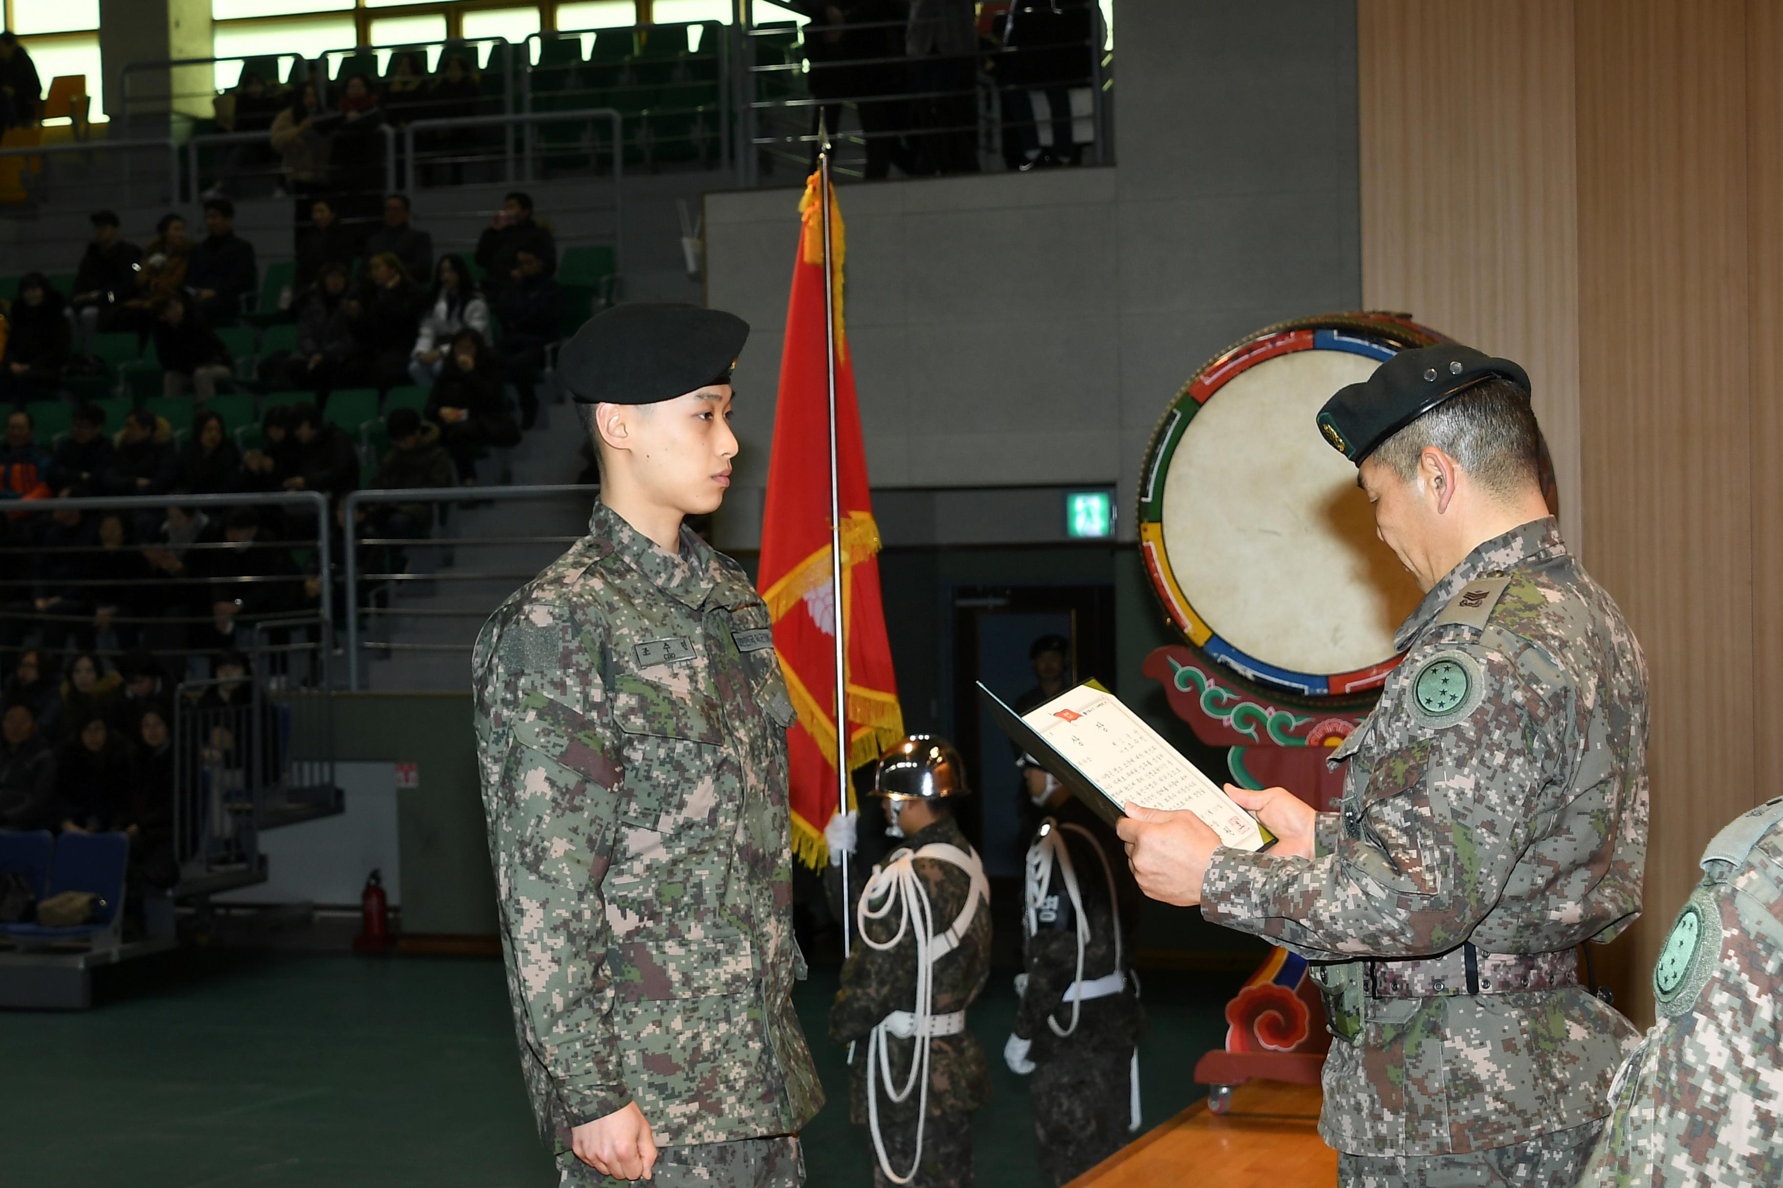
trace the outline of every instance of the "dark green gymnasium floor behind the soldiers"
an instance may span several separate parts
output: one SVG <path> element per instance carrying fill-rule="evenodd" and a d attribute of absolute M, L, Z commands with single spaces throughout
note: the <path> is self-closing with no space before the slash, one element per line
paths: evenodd
<path fill-rule="evenodd" d="M 114 971 L 87 1013 L 0 1013 L 0 1183 L 20 1188 L 506 1188 L 555 1184 L 514 1056 L 501 965 L 196 951 L 144 980 Z M 829 1094 L 806 1129 L 811 1188 L 870 1183 L 824 1017 L 834 969 L 799 1013 Z M 1237 976 L 1146 978 L 1146 1127 L 1198 1097 L 1195 1058 L 1225 1031 Z M 972 1028 L 991 1056 L 979 1188 L 1034 1188 L 1027 1090 L 1002 1065 L 1015 1012 L 998 972 Z"/>

